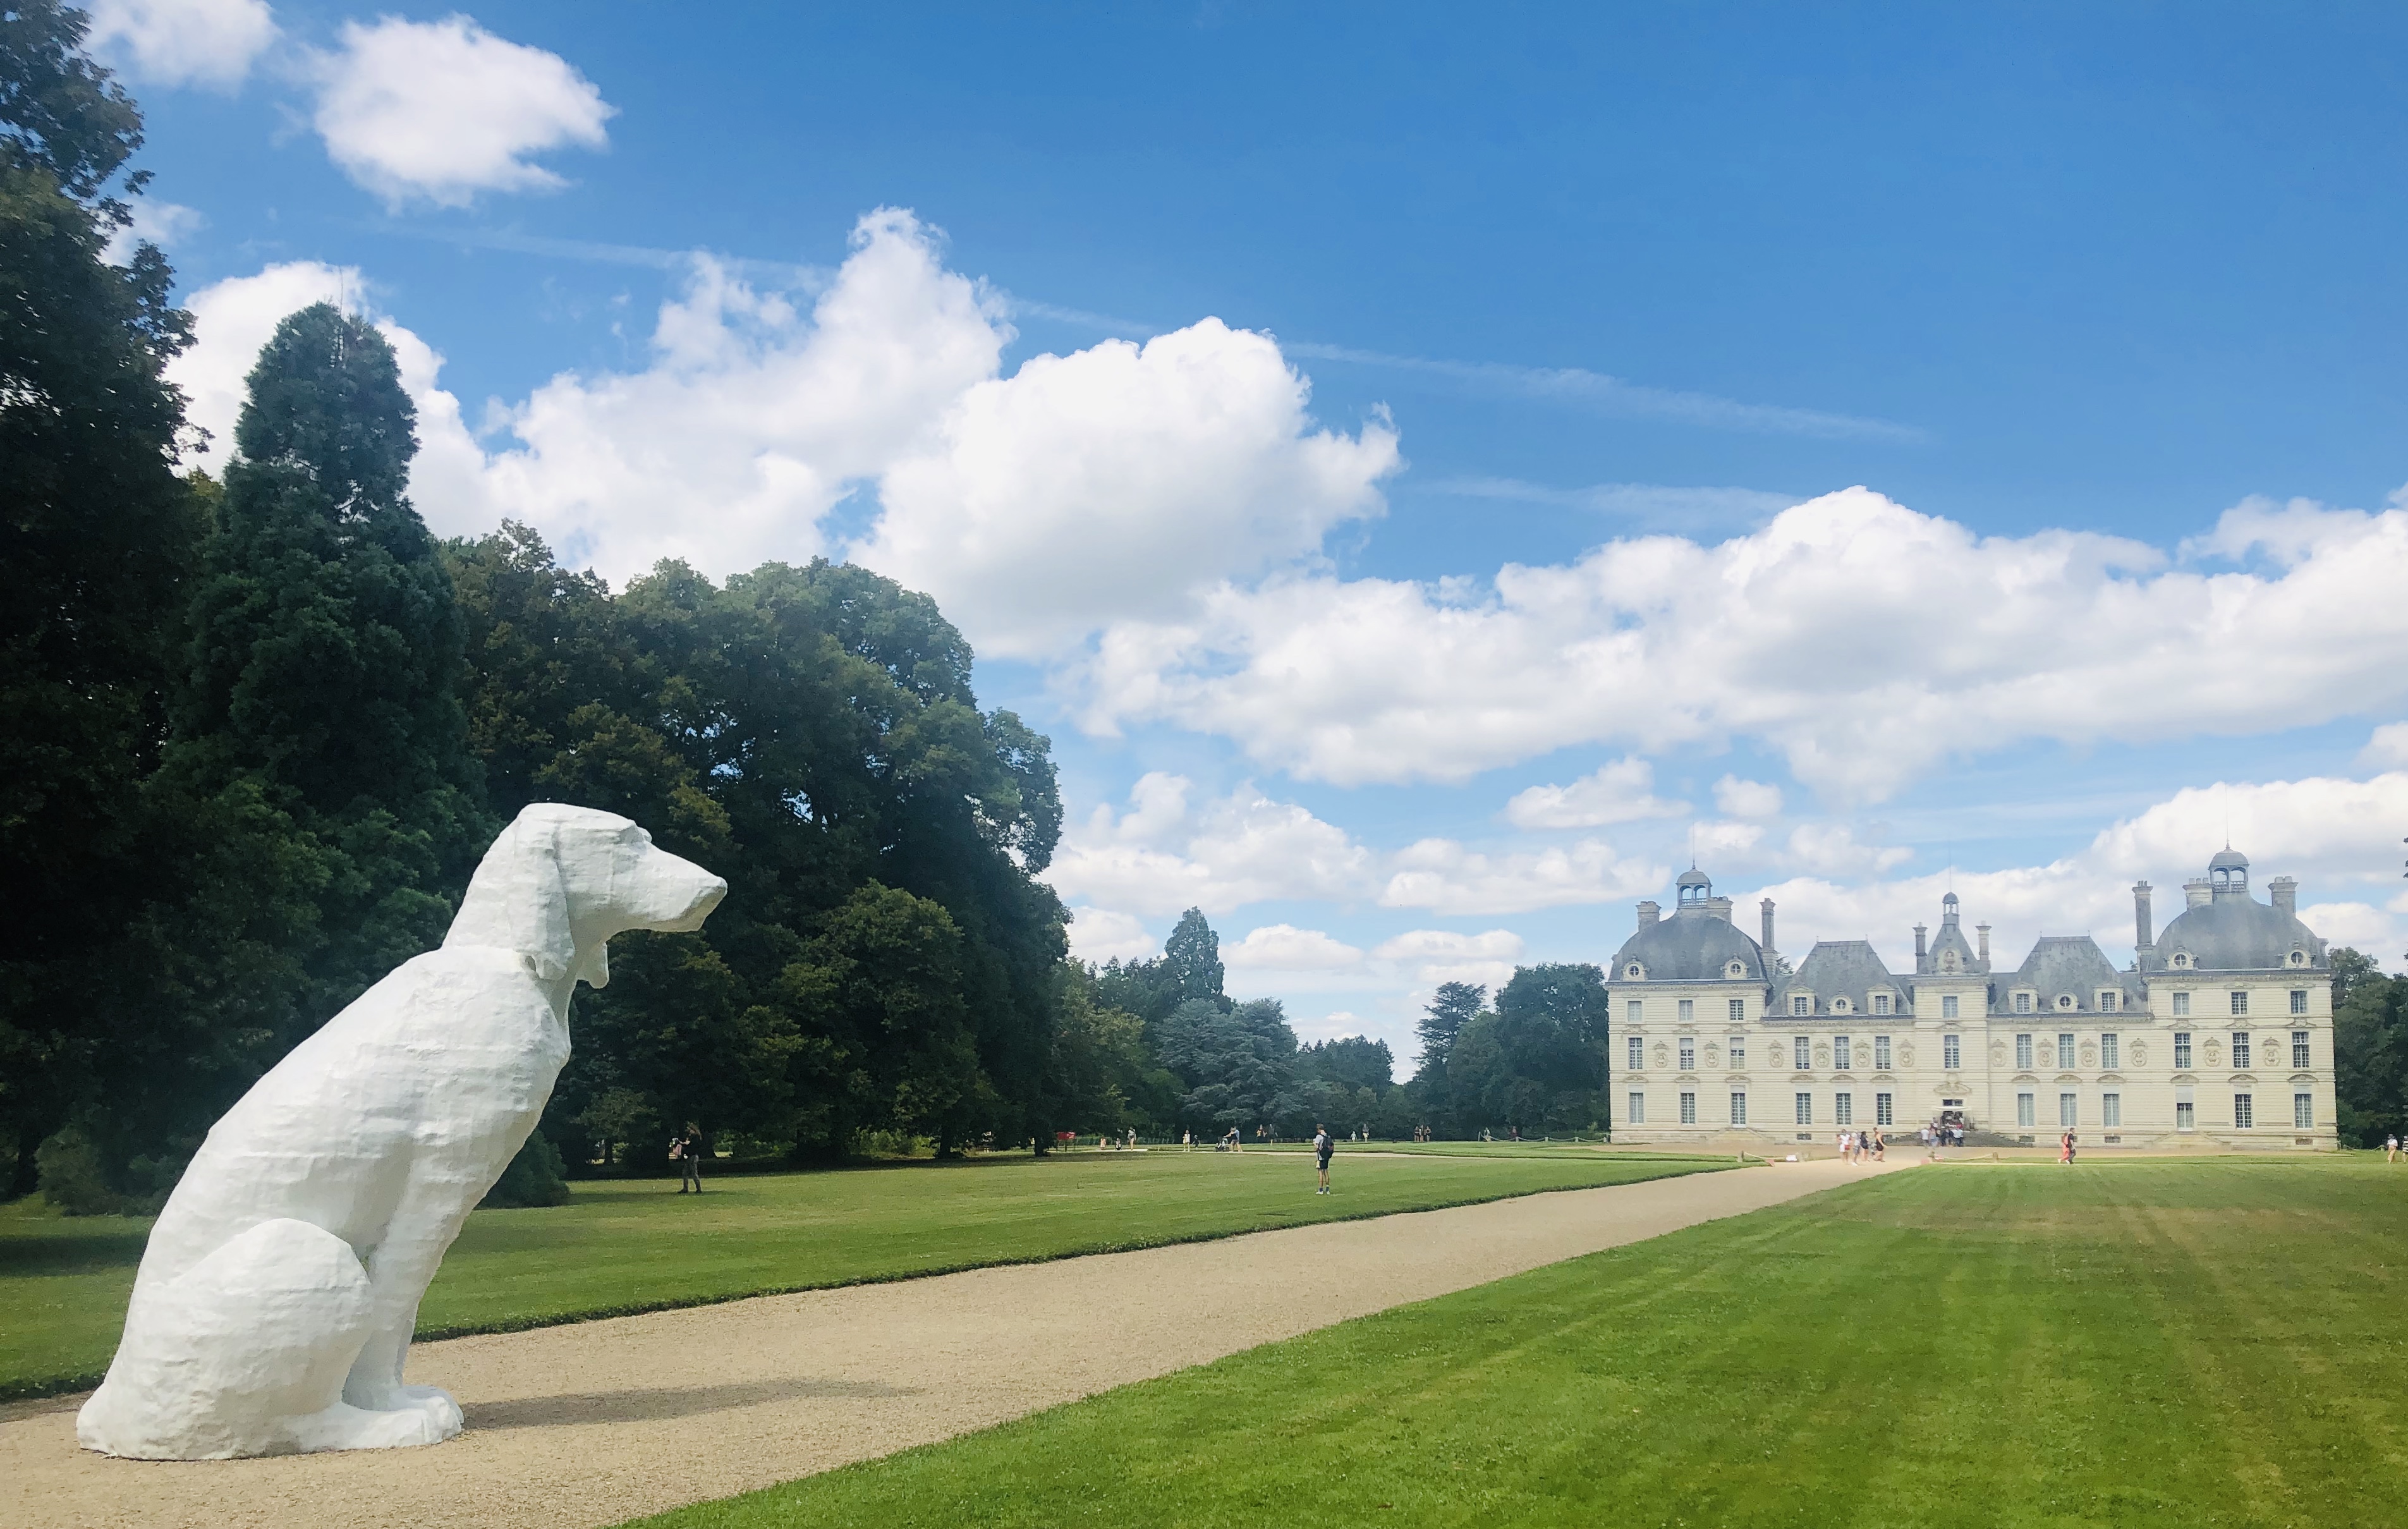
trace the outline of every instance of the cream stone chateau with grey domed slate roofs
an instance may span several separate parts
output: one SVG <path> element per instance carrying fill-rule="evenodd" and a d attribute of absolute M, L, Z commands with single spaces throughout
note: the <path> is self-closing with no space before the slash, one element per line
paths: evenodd
<path fill-rule="evenodd" d="M 1698 869 L 1606 973 L 1616 1141 L 1746 1139 L 1753 1151 L 1830 1141 L 1845 1127 L 1912 1137 L 1941 1120 L 1987 1137 L 2088 1146 L 2331 1149 L 2333 978 L 2295 913 L 2297 884 L 2249 893 L 2225 850 L 2150 929 L 2131 889 L 2136 961 L 2117 970 L 2088 934 L 2044 934 L 1996 970 L 1989 925 L 1967 941 L 1958 898 L 1914 925 L 1914 970 L 1869 941 L 1825 939 L 1792 970 L 1731 922 Z"/>

